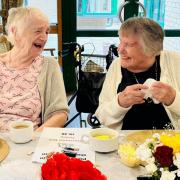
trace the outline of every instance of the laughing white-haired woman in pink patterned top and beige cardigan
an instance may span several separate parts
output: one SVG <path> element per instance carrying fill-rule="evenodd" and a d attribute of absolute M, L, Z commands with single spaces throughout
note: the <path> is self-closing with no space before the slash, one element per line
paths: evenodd
<path fill-rule="evenodd" d="M 7 38 L 13 48 L 0 54 L 0 132 L 16 120 L 29 120 L 36 131 L 63 127 L 68 105 L 58 62 L 41 55 L 49 20 L 39 9 L 9 10 Z"/>

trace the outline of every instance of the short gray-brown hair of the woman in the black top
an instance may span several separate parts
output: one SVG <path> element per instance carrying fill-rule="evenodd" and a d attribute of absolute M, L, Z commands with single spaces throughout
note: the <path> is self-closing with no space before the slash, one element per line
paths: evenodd
<path fill-rule="evenodd" d="M 139 37 L 144 53 L 147 55 L 159 55 L 163 49 L 163 29 L 151 19 L 143 17 L 129 18 L 121 25 L 118 34 L 122 36 L 134 34 Z"/>

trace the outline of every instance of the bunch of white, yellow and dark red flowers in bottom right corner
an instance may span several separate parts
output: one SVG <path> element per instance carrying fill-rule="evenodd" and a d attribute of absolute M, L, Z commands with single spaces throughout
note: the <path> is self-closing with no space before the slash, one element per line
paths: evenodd
<path fill-rule="evenodd" d="M 180 134 L 155 133 L 136 149 L 154 180 L 180 180 Z"/>

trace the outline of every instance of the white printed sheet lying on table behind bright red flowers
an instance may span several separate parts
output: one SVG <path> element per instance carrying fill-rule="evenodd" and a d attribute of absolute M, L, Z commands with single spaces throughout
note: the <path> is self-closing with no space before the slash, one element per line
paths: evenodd
<path fill-rule="evenodd" d="M 81 160 L 95 163 L 95 152 L 89 149 L 89 128 L 44 128 L 34 155 L 33 162 L 44 163 L 51 152 L 75 153 Z"/>

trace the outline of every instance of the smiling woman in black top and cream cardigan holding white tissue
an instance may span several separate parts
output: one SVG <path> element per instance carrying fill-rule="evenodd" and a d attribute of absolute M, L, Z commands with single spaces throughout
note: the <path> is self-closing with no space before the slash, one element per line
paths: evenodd
<path fill-rule="evenodd" d="M 96 116 L 115 129 L 178 129 L 180 54 L 162 51 L 163 30 L 148 18 L 126 20 L 119 39 Z"/>

